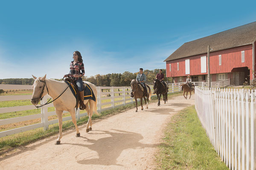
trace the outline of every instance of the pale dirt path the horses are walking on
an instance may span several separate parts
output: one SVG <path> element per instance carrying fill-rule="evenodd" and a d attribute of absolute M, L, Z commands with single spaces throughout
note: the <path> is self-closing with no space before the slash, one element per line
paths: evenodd
<path fill-rule="evenodd" d="M 161 101 L 163 103 L 163 101 Z M 154 169 L 154 153 L 163 128 L 177 111 L 194 105 L 191 99 L 177 96 L 166 105 L 151 103 L 144 111 L 135 109 L 110 116 L 93 124 L 64 132 L 60 145 L 57 136 L 30 144 L 0 159 L 1 170 L 121 170 Z"/>

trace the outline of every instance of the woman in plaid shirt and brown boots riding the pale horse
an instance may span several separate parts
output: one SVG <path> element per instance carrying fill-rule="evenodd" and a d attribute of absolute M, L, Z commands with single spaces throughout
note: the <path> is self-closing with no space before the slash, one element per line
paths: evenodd
<path fill-rule="evenodd" d="M 84 75 L 84 63 L 83 63 L 83 59 L 81 56 L 81 53 L 79 51 L 75 51 L 73 52 L 73 61 L 71 61 L 70 63 L 70 73 L 72 74 L 72 78 L 74 78 L 74 81 L 77 85 L 77 89 L 79 91 L 79 97 L 81 99 L 81 101 L 84 103 L 84 90 L 83 90 L 83 80 L 82 80 L 82 76 Z M 67 77 L 67 75 L 65 75 L 64 77 Z M 81 110 L 84 110 L 86 108 L 85 105 L 80 106 Z"/>

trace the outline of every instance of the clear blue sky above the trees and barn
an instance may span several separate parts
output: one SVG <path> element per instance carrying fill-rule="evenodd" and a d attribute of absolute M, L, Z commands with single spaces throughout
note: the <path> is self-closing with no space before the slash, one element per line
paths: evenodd
<path fill-rule="evenodd" d="M 73 51 L 88 77 L 166 68 L 184 42 L 254 21 L 256 1 L 2 1 L 0 79 L 62 78 Z"/>

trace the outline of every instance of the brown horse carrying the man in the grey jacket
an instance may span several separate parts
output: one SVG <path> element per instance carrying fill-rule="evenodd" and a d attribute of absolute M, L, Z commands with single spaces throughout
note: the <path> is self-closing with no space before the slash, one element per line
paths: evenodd
<path fill-rule="evenodd" d="M 149 96 L 147 97 L 147 100 L 143 94 L 143 91 L 141 90 L 141 88 L 139 87 L 138 83 L 136 82 L 136 79 L 131 80 L 131 91 L 134 94 L 134 99 L 136 102 L 136 112 L 138 112 L 138 107 L 137 107 L 137 98 L 140 98 L 140 105 L 141 105 L 141 110 L 143 111 L 143 98 L 145 100 L 146 103 L 146 108 L 148 109 L 148 99 L 151 101 L 151 89 L 148 85 L 146 85 L 146 87 L 148 87 L 148 91 L 149 91 Z"/>

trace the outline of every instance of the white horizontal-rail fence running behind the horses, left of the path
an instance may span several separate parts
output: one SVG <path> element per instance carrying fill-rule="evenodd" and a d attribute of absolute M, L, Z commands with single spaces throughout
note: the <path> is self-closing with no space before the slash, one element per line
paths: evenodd
<path fill-rule="evenodd" d="M 179 83 L 172 83 L 169 84 L 169 93 L 175 93 L 181 91 L 180 85 L 182 85 L 185 82 L 179 82 Z M 206 86 L 205 82 L 193 82 L 197 86 Z M 151 90 L 153 90 L 153 86 L 150 85 Z M 0 89 L 19 89 L 19 90 L 32 90 L 31 85 L 1 85 Z M 97 87 L 98 91 L 98 112 L 106 111 L 111 108 L 116 108 L 122 105 L 128 105 L 134 102 L 134 99 L 130 97 L 131 94 L 131 87 Z M 152 95 L 154 96 L 154 95 Z M 47 99 L 49 99 L 50 96 L 45 96 L 43 100 L 41 101 L 41 104 L 44 104 L 47 102 Z M 13 96 L 0 96 L 0 101 L 12 101 L 12 100 L 26 100 L 31 99 L 31 95 L 13 95 Z M 27 125 L 24 127 L 18 127 L 11 130 L 6 130 L 0 132 L 0 137 L 12 135 L 15 133 L 24 132 L 27 130 L 32 130 L 38 127 L 44 127 L 45 130 L 48 129 L 49 125 L 58 123 L 58 119 L 55 120 L 48 120 L 49 116 L 54 116 L 55 111 L 48 112 L 48 108 L 53 107 L 52 103 L 46 106 L 41 107 L 41 113 L 39 114 L 32 114 L 29 116 L 20 116 L 10 119 L 1 119 L 0 120 L 0 126 L 8 125 L 12 123 L 17 122 L 23 122 L 23 121 L 29 121 L 33 119 L 40 119 L 41 122 L 34 124 L 34 125 Z M 9 113 L 9 112 L 17 112 L 17 111 L 26 111 L 26 110 L 32 110 L 35 109 L 34 105 L 25 105 L 25 106 L 15 106 L 15 107 L 8 107 L 8 108 L 0 108 L 0 114 L 3 113 Z M 64 113 L 68 113 L 67 111 L 64 111 Z M 80 119 L 81 116 L 85 116 L 87 113 L 80 113 L 78 110 L 76 112 L 76 119 Z M 71 116 L 64 117 L 63 121 L 67 121 L 72 119 Z"/>

